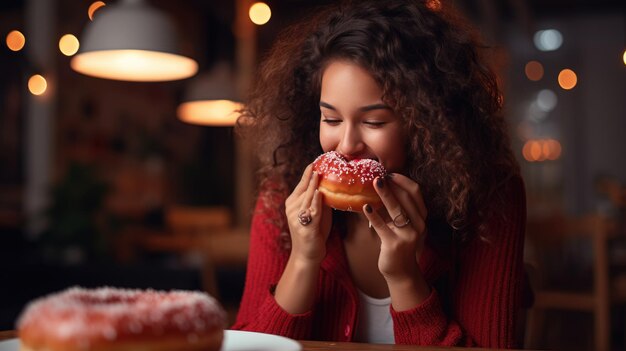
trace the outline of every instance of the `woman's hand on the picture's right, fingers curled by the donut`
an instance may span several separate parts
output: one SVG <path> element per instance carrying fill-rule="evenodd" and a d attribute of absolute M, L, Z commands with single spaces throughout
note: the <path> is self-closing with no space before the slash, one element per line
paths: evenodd
<path fill-rule="evenodd" d="M 421 276 L 418 259 L 426 238 L 427 210 L 420 187 L 394 173 L 376 178 L 374 188 L 384 208 L 376 212 L 366 205 L 363 212 L 381 239 L 378 269 L 388 284 L 414 280 Z"/>

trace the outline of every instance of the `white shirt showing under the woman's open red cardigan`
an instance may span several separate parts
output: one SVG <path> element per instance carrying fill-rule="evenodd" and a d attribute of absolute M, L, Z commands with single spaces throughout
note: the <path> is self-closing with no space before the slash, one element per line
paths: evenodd
<path fill-rule="evenodd" d="M 357 289 L 358 290 L 358 289 Z M 355 341 L 370 344 L 395 344 L 393 320 L 391 319 L 391 297 L 375 299 L 359 292 L 359 314 L 355 330 Z"/>

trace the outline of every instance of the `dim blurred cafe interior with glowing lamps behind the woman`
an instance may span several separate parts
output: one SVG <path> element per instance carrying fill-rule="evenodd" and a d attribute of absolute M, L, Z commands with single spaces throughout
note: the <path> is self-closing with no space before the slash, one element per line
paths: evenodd
<path fill-rule="evenodd" d="M 0 1 L 0 330 L 70 286 L 203 290 L 232 322 L 258 169 L 235 111 L 281 29 L 333 2 Z M 624 350 L 624 2 L 455 3 L 526 185 L 524 345 Z"/>

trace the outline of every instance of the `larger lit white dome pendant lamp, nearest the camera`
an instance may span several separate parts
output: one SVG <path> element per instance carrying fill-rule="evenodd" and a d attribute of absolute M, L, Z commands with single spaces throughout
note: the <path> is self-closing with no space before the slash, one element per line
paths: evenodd
<path fill-rule="evenodd" d="M 144 0 L 121 0 L 98 11 L 72 58 L 77 72 L 98 78 L 156 82 L 184 79 L 198 64 L 178 53 L 175 28 Z"/>

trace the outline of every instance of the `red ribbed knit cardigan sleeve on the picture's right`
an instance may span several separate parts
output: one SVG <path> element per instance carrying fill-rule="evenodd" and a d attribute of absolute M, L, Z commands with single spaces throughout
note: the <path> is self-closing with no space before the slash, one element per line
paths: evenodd
<path fill-rule="evenodd" d="M 391 309 L 396 343 L 513 348 L 523 290 L 526 198 L 521 178 L 502 189 L 504 206 L 488 209 L 487 230 L 459 253 L 451 316 L 434 289 L 417 307 Z"/>

